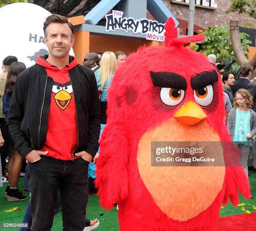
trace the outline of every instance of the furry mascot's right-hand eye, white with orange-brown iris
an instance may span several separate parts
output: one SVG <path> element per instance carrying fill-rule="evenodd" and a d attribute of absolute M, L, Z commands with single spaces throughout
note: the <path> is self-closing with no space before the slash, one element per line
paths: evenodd
<path fill-rule="evenodd" d="M 208 85 L 203 88 L 194 90 L 194 99 L 201 106 L 208 106 L 212 103 L 213 100 L 213 88 L 212 85 Z"/>

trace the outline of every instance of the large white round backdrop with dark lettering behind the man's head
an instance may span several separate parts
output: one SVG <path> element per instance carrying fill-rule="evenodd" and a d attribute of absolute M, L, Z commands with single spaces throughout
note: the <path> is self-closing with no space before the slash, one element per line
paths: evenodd
<path fill-rule="evenodd" d="M 43 24 L 51 15 L 48 10 L 32 3 L 13 3 L 0 8 L 0 66 L 8 55 L 30 67 L 37 55 L 48 52 L 44 44 Z M 70 55 L 74 55 L 71 48 Z"/>

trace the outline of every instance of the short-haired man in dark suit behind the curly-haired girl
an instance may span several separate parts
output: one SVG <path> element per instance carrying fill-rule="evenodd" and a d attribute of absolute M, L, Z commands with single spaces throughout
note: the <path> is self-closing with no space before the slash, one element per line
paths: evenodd
<path fill-rule="evenodd" d="M 240 73 L 240 79 L 236 81 L 236 83 L 231 87 L 233 95 L 235 95 L 236 91 L 240 88 L 246 89 L 247 85 L 252 80 L 252 71 L 253 67 L 251 64 L 246 63 L 241 65 L 241 68 L 239 70 Z"/>

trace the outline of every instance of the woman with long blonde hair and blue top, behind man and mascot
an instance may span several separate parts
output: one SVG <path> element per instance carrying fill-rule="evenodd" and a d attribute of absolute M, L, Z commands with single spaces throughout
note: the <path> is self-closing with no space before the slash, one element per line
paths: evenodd
<path fill-rule="evenodd" d="M 100 60 L 100 69 L 95 73 L 97 80 L 98 90 L 100 92 L 100 107 L 101 107 L 101 121 L 100 121 L 100 136 L 103 131 L 103 128 L 107 121 L 106 111 L 107 111 L 107 90 L 110 87 L 112 78 L 115 73 L 116 68 L 116 58 L 115 53 L 111 51 L 106 51 L 103 53 Z M 100 149 L 98 150 L 95 159 L 99 156 Z M 88 167 L 88 178 L 89 178 L 89 193 L 97 193 L 95 188 L 94 180 L 95 175 L 95 162 L 90 162 Z"/>

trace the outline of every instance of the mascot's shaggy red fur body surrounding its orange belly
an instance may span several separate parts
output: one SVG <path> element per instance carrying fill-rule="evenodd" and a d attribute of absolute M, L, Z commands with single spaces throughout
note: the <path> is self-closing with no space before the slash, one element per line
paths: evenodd
<path fill-rule="evenodd" d="M 154 131 L 156 127 L 170 120 L 184 103 L 193 101 L 199 105 L 193 97 L 190 80 L 198 73 L 215 70 L 204 54 L 176 46 L 175 42 L 172 44 L 174 45 L 172 47 L 143 47 L 131 54 L 127 61 L 118 67 L 108 91 L 108 120 L 100 140 L 96 186 L 103 207 L 110 209 L 115 201 L 118 202 L 121 231 L 213 231 L 222 203 L 227 203 L 230 198 L 231 202 L 237 205 L 238 189 L 243 196 L 250 197 L 249 183 L 243 168 L 226 166 L 222 189 L 210 206 L 195 217 L 186 221 L 177 221 L 161 211 L 156 205 L 157 198 L 152 197 L 141 178 L 137 153 L 143 134 Z M 160 87 L 153 85 L 150 71 L 172 72 L 183 76 L 187 81 L 184 100 L 177 106 L 167 106 L 162 103 L 159 96 Z M 225 109 L 219 74 L 218 82 L 213 84 L 213 89 L 212 103 L 207 107 L 199 105 L 207 115 L 205 119 L 207 126 L 203 132 L 206 134 L 205 141 L 208 136 L 218 137 L 215 141 L 232 141 L 223 123 Z M 203 127 L 202 124 L 200 126 Z M 190 128 L 183 126 L 182 131 L 176 135 L 177 141 L 186 141 L 186 131 L 189 131 L 186 129 Z M 170 134 L 175 133 L 175 129 L 175 123 L 170 124 Z M 195 132 L 200 131 L 195 129 Z M 216 136 L 212 136 L 212 133 Z M 161 137 L 155 138 L 161 140 Z M 153 139 L 155 138 L 153 134 Z M 194 139 L 196 140 L 196 136 Z M 223 153 L 224 156 L 228 153 L 226 159 L 238 157 L 238 151 L 230 153 L 230 148 L 225 145 L 223 145 Z M 148 155 L 150 156 L 151 153 Z M 156 171 L 152 181 L 166 182 L 164 175 L 159 174 L 164 173 Z M 184 168 L 184 176 L 185 174 Z M 170 175 L 167 180 L 173 181 L 173 187 L 180 187 L 178 188 L 180 193 L 186 193 L 186 188 L 182 187 L 179 178 L 172 179 Z M 203 180 L 205 180 L 204 176 L 202 176 Z M 175 189 L 177 191 L 177 188 Z M 210 188 L 208 193 L 211 193 Z M 169 188 L 169 194 L 172 194 L 172 187 Z M 164 196 L 168 197 L 168 193 L 159 195 L 159 198 L 164 199 Z M 186 198 L 189 200 L 189 195 Z M 191 200 L 192 198 L 191 195 Z M 191 209 L 184 206 L 187 202 L 175 201 L 182 208 L 179 213 Z"/>

